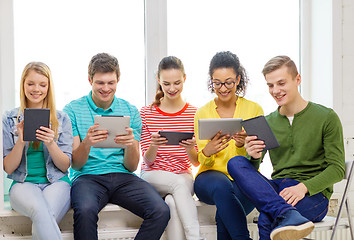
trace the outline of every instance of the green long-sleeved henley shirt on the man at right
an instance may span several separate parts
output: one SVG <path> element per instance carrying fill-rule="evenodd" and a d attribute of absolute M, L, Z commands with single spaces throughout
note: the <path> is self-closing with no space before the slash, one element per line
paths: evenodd
<path fill-rule="evenodd" d="M 322 192 L 329 199 L 333 184 L 345 173 L 343 129 L 337 114 L 309 102 L 292 124 L 278 110 L 266 119 L 280 144 L 269 151 L 272 179 L 300 181 L 310 196 Z"/>

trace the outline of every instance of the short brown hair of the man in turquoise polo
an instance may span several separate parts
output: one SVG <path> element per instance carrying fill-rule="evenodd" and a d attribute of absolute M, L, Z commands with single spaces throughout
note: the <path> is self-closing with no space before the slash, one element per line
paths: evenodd
<path fill-rule="evenodd" d="M 120 70 L 117 58 L 108 53 L 98 53 L 93 56 L 88 66 L 89 78 L 92 80 L 93 76 L 98 72 L 115 72 L 118 80 L 120 76 Z"/>

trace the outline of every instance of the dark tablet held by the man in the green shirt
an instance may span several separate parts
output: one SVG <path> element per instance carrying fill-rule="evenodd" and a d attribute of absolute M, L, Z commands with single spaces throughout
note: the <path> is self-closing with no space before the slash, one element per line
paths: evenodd
<path fill-rule="evenodd" d="M 266 145 L 263 151 L 279 147 L 272 129 L 264 116 L 258 116 L 242 121 L 242 126 L 248 136 L 257 136 Z"/>

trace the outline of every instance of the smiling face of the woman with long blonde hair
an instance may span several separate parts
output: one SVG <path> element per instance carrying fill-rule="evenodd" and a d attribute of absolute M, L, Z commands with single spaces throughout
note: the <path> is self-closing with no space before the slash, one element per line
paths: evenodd
<path fill-rule="evenodd" d="M 42 108 L 44 99 L 47 97 L 49 81 L 42 74 L 31 70 L 24 80 L 24 93 L 28 108 Z"/>

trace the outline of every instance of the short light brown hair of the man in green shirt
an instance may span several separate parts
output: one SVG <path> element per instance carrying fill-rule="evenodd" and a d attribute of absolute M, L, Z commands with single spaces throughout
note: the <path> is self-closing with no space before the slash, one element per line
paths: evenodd
<path fill-rule="evenodd" d="M 296 65 L 293 60 L 288 56 L 276 56 L 271 58 L 263 67 L 262 73 L 265 77 L 268 73 L 274 72 L 279 68 L 286 66 L 288 68 L 288 73 L 295 78 L 299 72 L 297 71 Z"/>

